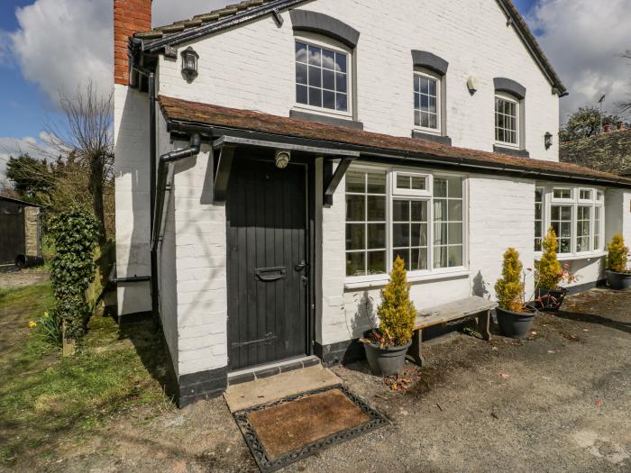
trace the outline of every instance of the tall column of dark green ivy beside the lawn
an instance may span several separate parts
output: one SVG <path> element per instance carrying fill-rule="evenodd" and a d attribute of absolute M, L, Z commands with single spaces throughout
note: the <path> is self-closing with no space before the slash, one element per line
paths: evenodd
<path fill-rule="evenodd" d="M 72 208 L 51 220 L 50 234 L 57 251 L 50 271 L 55 315 L 66 324 L 66 336 L 78 339 L 90 316 L 86 289 L 95 275 L 99 224 L 87 210 Z"/>

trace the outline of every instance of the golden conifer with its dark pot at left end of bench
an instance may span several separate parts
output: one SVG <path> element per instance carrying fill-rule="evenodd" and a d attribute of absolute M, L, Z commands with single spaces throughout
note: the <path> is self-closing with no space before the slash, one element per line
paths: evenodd
<path fill-rule="evenodd" d="M 390 282 L 381 290 L 381 305 L 377 310 L 380 326 L 366 332 L 361 339 L 370 372 L 375 376 L 397 374 L 406 360 L 416 321 L 409 290 L 405 263 L 397 257 Z"/>

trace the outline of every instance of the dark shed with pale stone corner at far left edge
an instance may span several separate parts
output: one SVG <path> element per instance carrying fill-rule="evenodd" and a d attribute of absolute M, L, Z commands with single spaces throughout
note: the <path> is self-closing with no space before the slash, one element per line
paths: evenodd
<path fill-rule="evenodd" d="M 0 196 L 0 264 L 41 256 L 41 207 Z"/>

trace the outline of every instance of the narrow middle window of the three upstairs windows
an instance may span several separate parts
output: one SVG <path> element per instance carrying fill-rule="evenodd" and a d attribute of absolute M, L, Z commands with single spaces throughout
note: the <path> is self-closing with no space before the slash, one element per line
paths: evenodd
<path fill-rule="evenodd" d="M 414 73 L 414 124 L 425 132 L 441 131 L 441 78 Z"/>

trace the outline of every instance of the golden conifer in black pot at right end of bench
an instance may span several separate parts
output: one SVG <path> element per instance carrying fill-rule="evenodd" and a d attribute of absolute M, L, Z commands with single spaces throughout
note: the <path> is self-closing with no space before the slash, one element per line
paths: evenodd
<path fill-rule="evenodd" d="M 535 320 L 537 310 L 526 305 L 525 288 L 524 266 L 519 260 L 519 253 L 509 248 L 504 253 L 502 277 L 495 285 L 499 329 L 507 337 L 523 339 Z"/>

